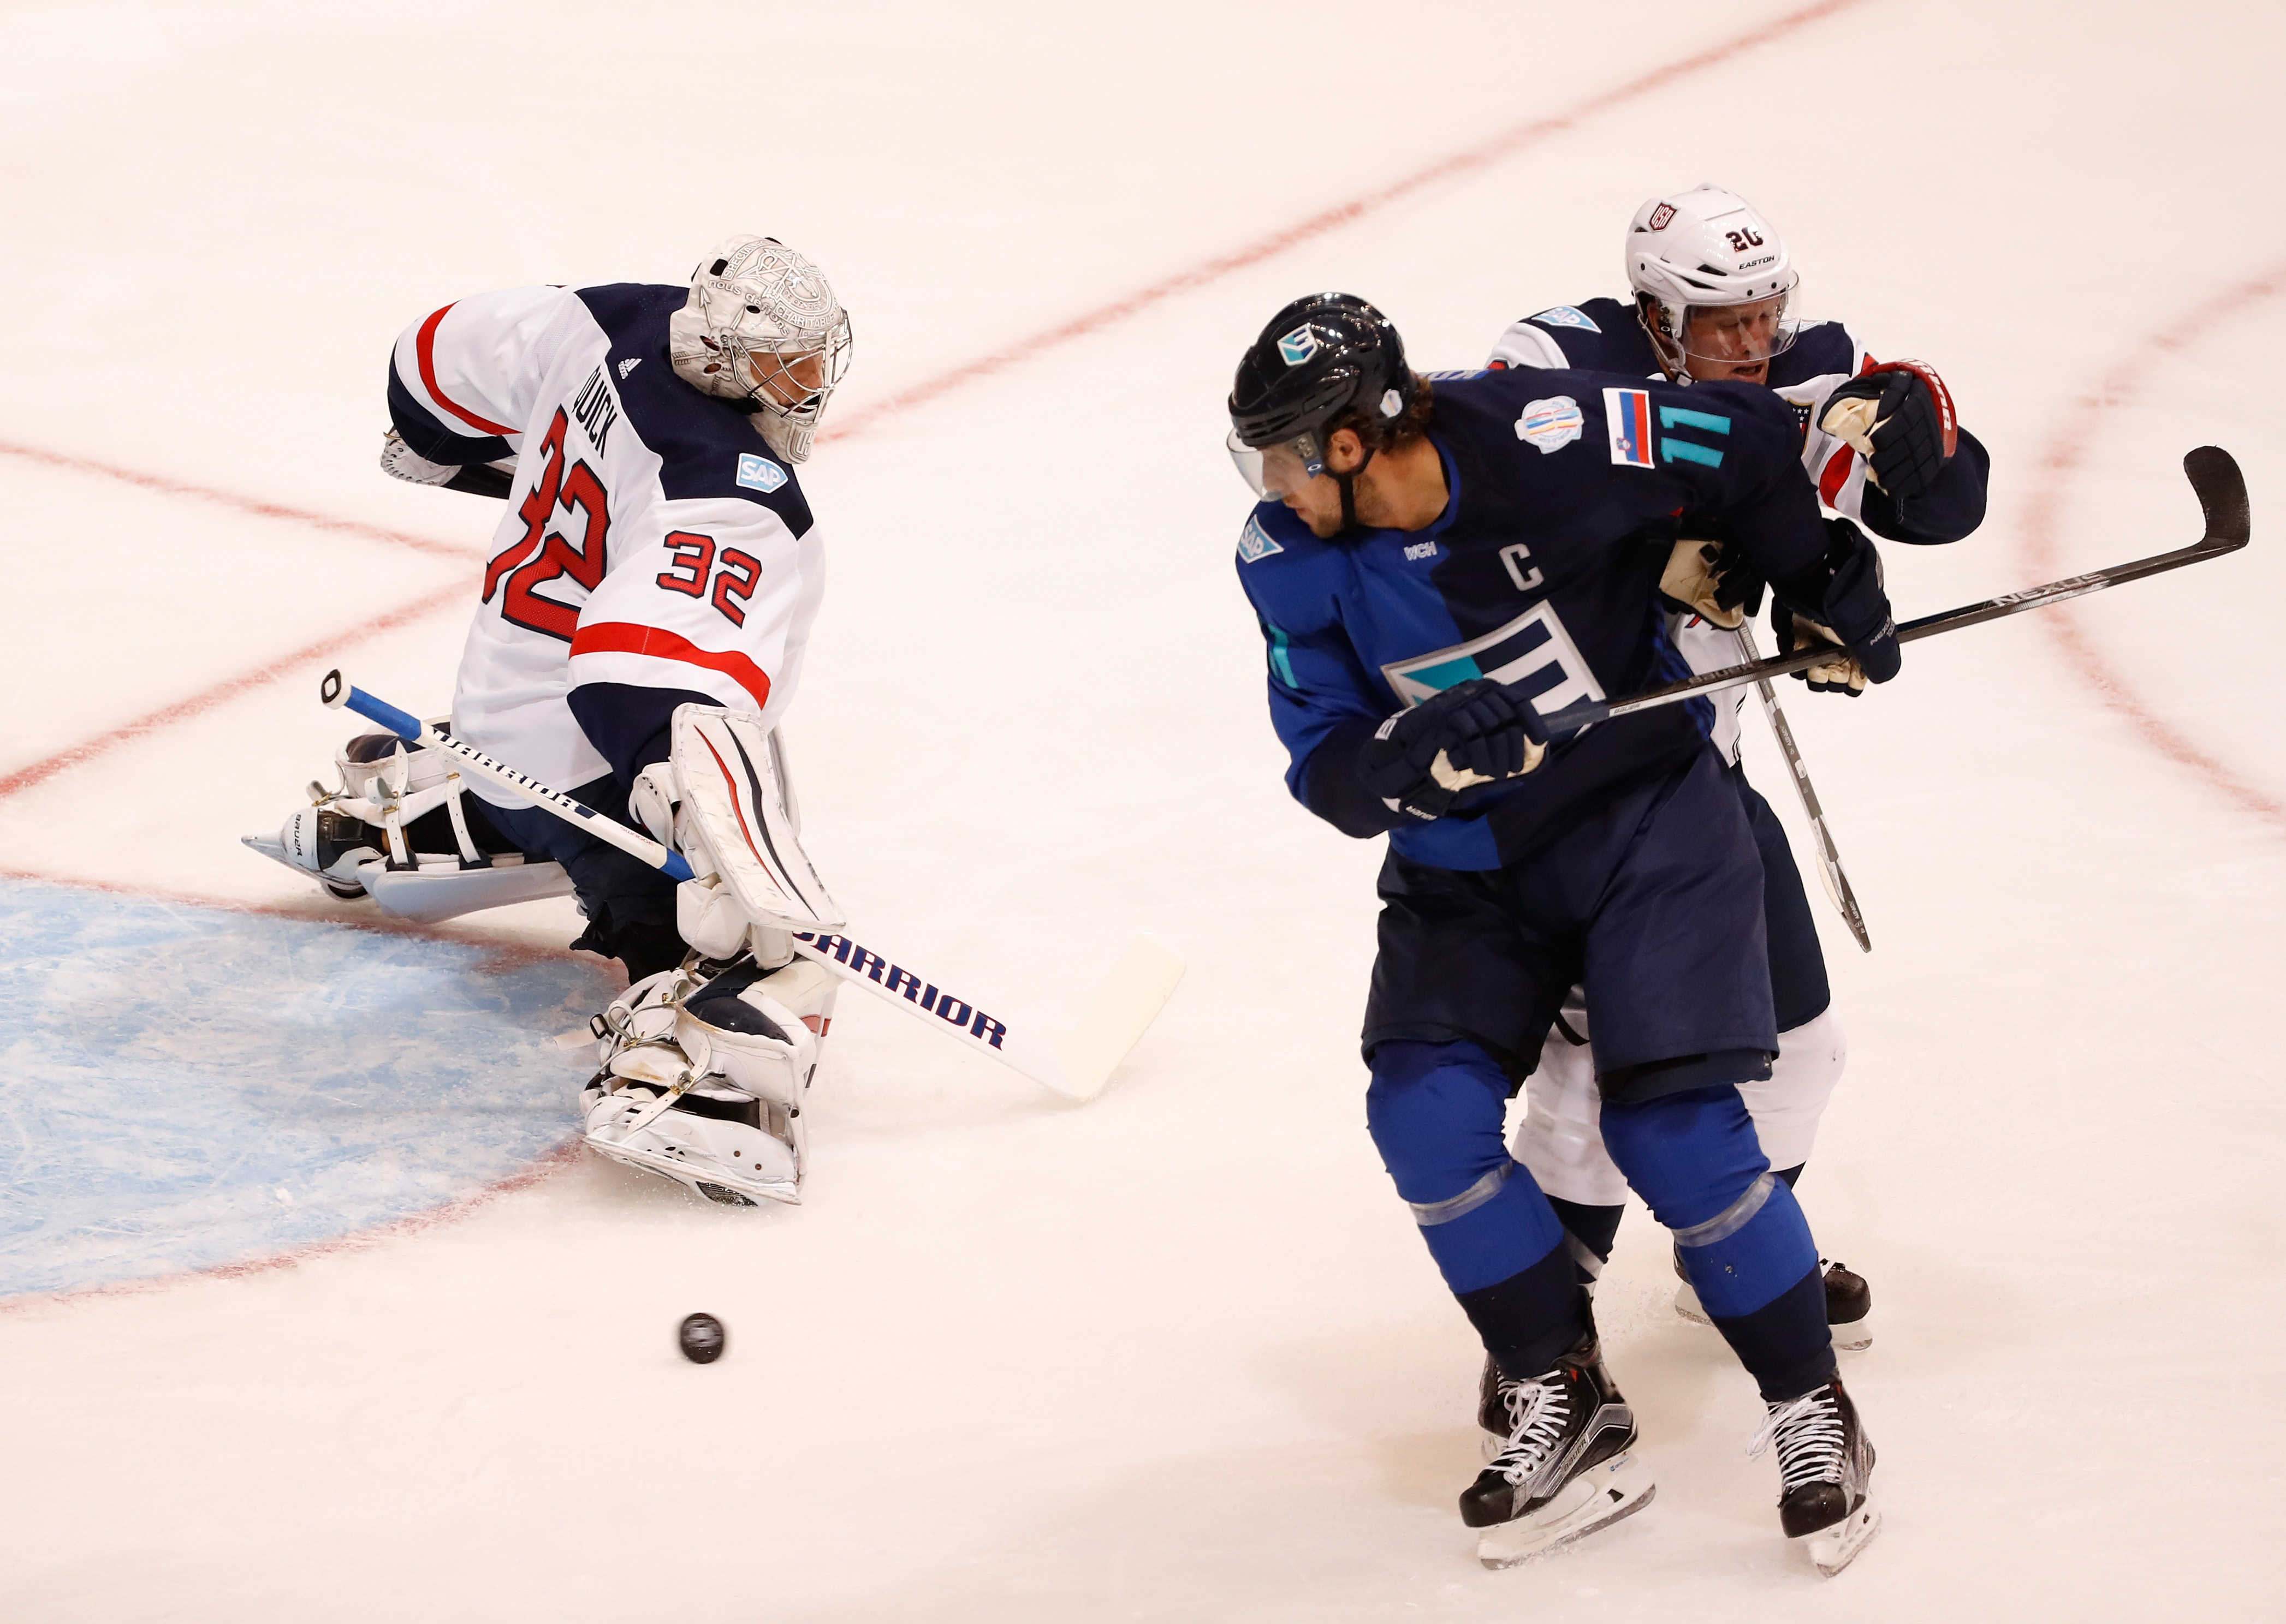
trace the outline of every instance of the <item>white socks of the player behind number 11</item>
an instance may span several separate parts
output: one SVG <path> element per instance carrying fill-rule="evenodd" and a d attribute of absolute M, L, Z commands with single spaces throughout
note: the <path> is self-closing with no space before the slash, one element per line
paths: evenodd
<path fill-rule="evenodd" d="M 1584 1030 L 1577 1007 L 1566 1010 L 1564 1019 Z M 1779 1058 L 1769 1067 L 1767 1083 L 1737 1085 L 1774 1172 L 1799 1167 L 1811 1158 L 1817 1119 L 1827 1112 L 1827 1099 L 1843 1080 L 1847 1062 L 1843 1023 L 1827 1005 L 1824 1014 L 1779 1032 Z M 1516 1160 L 1532 1169 L 1541 1190 L 1561 1201 L 1621 1206 L 1628 1199 L 1628 1181 L 1602 1149 L 1600 1117 L 1593 1044 L 1573 1044 L 1561 1030 L 1550 1032 L 1538 1069 L 1525 1078 Z"/>

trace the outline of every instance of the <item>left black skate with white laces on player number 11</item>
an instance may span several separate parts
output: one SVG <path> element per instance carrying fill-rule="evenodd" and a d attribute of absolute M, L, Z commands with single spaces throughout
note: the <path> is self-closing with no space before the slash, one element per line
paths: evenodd
<path fill-rule="evenodd" d="M 1650 1505 L 1657 1485 L 1634 1450 L 1634 1412 L 1589 1336 L 1529 1382 L 1484 1364 L 1477 1423 L 1497 1448 L 1461 1492 L 1461 1521 L 1481 1528 L 1477 1560 L 1513 1567 Z"/>

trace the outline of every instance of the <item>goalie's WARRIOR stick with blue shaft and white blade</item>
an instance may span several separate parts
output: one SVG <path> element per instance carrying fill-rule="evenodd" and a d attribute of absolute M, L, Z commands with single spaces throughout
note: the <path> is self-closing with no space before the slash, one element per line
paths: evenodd
<path fill-rule="evenodd" d="M 379 722 L 407 742 L 446 751 L 478 777 L 658 868 L 670 879 L 690 879 L 690 863 L 679 852 L 670 852 L 658 841 L 606 818 L 594 806 L 583 806 L 569 795 L 517 772 L 507 763 L 494 761 L 450 733 L 439 733 L 421 717 L 398 710 L 361 688 L 352 688 L 343 681 L 341 672 L 325 674 L 318 697 L 329 708 L 347 708 L 368 722 Z M 1127 1058 L 1127 1051 L 1141 1042 L 1143 1032 L 1159 1016 L 1159 1010 L 1166 1007 L 1184 971 L 1182 959 L 1159 941 L 1136 936 L 1111 968 L 1111 975 L 1095 989 L 1095 998 L 1081 1012 L 1079 1023 L 1063 1037 L 1049 1039 L 1045 1026 L 1020 1019 L 1008 1005 L 994 1000 L 988 1010 L 974 998 L 958 996 L 944 982 L 910 968 L 910 959 L 892 957 L 848 934 L 796 932 L 793 946 L 841 980 L 889 1000 L 960 1046 L 999 1060 L 1033 1083 L 1077 1101 L 1095 1099 L 1104 1090 L 1120 1060 Z"/>

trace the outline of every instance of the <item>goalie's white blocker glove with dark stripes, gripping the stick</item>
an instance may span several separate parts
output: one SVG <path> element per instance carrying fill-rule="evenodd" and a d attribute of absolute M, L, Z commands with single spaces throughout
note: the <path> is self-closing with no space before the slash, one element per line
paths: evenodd
<path fill-rule="evenodd" d="M 802 852 L 784 763 L 761 719 L 679 706 L 670 738 L 670 758 L 636 779 L 629 813 L 690 863 L 695 877 L 674 893 L 684 941 L 732 959 L 754 932 L 841 930 L 848 920 Z"/>

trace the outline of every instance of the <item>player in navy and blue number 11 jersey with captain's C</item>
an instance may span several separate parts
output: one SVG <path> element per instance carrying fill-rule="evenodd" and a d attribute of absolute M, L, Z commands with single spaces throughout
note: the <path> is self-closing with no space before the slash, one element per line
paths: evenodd
<path fill-rule="evenodd" d="M 1367 1124 L 1486 1354 L 1490 1466 L 1461 1496 L 1506 1565 L 1650 1498 L 1564 1227 L 1502 1142 L 1564 996 L 1596 1007 L 1602 1137 L 1753 1373 L 1781 1523 L 1838 1571 L 1872 1450 L 1833 1370 L 1817 1247 L 1740 1083 L 1776 1019 L 1753 831 L 1682 704 L 1552 738 L 1545 717 L 1671 681 L 1680 523 L 1721 525 L 1872 681 L 1897 642 L 1872 546 L 1824 521 L 1767 388 L 1609 372 L 1424 379 L 1346 295 L 1280 311 L 1239 363 L 1232 455 L 1262 503 L 1239 580 L 1269 644 L 1287 783 L 1390 834 L 1365 1012 Z"/>

